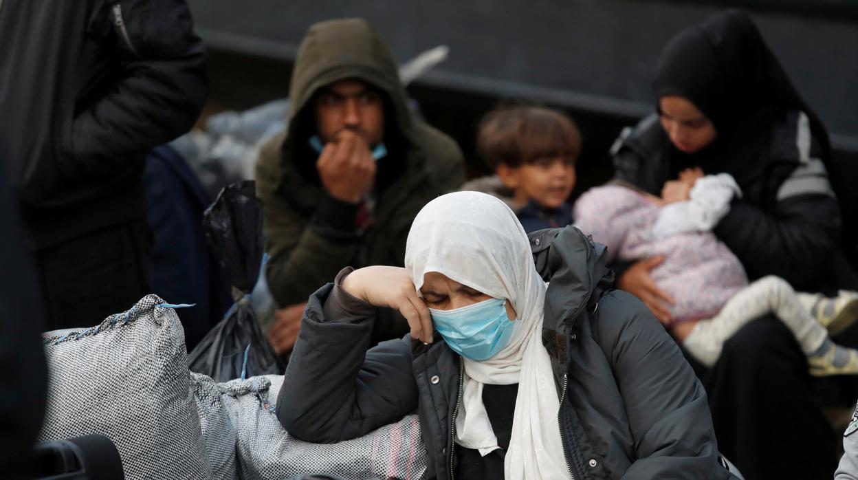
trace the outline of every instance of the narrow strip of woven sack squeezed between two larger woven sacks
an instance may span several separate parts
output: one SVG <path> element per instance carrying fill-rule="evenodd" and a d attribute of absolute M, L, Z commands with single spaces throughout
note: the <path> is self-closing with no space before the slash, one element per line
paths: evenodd
<path fill-rule="evenodd" d="M 205 375 L 191 372 L 190 391 L 196 400 L 196 414 L 200 417 L 202 441 L 213 480 L 237 479 L 236 431 L 221 402 L 221 386 Z"/>

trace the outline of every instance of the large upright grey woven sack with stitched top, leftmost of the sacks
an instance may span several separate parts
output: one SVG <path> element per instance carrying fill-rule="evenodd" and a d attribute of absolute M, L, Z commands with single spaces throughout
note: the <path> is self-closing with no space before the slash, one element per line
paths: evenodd
<path fill-rule="evenodd" d="M 104 434 L 130 480 L 211 477 L 172 307 L 148 295 L 100 325 L 43 334 L 50 379 L 40 441 Z"/>

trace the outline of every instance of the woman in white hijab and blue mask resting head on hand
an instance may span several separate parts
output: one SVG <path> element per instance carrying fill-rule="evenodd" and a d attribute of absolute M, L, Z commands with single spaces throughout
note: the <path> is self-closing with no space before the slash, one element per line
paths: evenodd
<path fill-rule="evenodd" d="M 494 197 L 438 197 L 404 269 L 344 269 L 311 295 L 277 416 L 331 442 L 416 409 L 437 478 L 731 477 L 703 388 L 603 253 L 575 228 L 529 239 Z M 411 333 L 366 351 L 379 307 Z"/>

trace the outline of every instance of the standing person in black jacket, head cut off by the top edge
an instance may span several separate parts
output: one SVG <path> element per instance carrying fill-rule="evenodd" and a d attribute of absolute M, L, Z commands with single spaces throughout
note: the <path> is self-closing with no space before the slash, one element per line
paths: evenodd
<path fill-rule="evenodd" d="M 202 42 L 183 0 L 3 0 L 0 143 L 50 325 L 93 325 L 149 293 L 149 149 L 202 109 Z"/>

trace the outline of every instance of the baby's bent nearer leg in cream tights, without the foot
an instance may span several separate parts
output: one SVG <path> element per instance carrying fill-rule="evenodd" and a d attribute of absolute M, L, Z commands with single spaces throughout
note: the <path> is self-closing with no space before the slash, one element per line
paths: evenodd
<path fill-rule="evenodd" d="M 704 365 L 712 366 L 729 337 L 766 313 L 775 313 L 787 325 L 807 355 L 819 349 L 828 337 L 795 297 L 789 283 L 766 276 L 733 295 L 715 317 L 700 320 L 686 337 L 685 347 Z"/>

